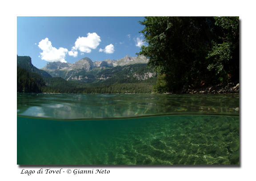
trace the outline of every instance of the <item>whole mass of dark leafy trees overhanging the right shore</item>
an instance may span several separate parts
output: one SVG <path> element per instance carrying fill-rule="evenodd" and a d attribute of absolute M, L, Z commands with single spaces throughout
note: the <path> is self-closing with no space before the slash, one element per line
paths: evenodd
<path fill-rule="evenodd" d="M 140 24 L 148 46 L 139 54 L 149 58 L 167 91 L 239 78 L 237 17 L 145 17 Z M 165 89 L 157 83 L 156 91 Z"/>

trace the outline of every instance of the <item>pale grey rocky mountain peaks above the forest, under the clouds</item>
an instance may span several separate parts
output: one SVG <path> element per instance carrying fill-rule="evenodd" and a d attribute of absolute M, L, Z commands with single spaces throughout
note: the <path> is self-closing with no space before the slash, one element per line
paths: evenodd
<path fill-rule="evenodd" d="M 77 62 L 48 62 L 41 70 L 52 77 L 62 77 L 67 81 L 82 81 L 86 83 L 105 81 L 120 76 L 123 78 L 135 77 L 137 80 L 146 80 L 154 77 L 155 73 L 146 65 L 148 59 L 144 56 L 130 57 L 126 55 L 118 60 L 104 60 L 93 62 L 90 58 L 82 58 Z"/>

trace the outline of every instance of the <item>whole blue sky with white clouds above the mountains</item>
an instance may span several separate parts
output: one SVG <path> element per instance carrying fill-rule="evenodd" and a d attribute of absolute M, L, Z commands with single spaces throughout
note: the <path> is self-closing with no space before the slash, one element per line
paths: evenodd
<path fill-rule="evenodd" d="M 144 17 L 17 17 L 17 54 L 37 68 L 47 62 L 74 63 L 136 56 L 144 42 Z"/>

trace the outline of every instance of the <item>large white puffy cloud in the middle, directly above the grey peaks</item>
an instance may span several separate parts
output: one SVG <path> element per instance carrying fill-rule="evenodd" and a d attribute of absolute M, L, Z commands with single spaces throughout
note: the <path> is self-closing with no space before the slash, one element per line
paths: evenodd
<path fill-rule="evenodd" d="M 96 33 L 88 33 L 87 37 L 78 37 L 75 42 L 75 49 L 80 52 L 90 53 L 100 45 L 100 36 Z"/>

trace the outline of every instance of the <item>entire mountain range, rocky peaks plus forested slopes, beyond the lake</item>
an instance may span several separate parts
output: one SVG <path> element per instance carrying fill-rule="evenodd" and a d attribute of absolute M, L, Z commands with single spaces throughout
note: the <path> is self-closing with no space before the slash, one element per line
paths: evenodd
<path fill-rule="evenodd" d="M 143 56 L 93 62 L 49 62 L 32 65 L 28 56 L 17 55 L 17 92 L 49 93 L 151 93 L 156 73 Z"/>

